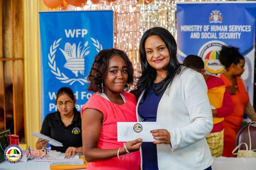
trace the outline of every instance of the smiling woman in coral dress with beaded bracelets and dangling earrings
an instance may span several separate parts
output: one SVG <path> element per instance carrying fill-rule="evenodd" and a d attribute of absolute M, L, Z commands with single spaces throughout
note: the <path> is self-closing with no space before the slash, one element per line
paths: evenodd
<path fill-rule="evenodd" d="M 117 141 L 117 122 L 137 122 L 135 96 L 122 92 L 133 83 L 133 67 L 128 56 L 113 48 L 100 51 L 88 80 L 88 90 L 96 93 L 81 109 L 87 169 L 140 169 L 142 139 L 125 144 Z"/>

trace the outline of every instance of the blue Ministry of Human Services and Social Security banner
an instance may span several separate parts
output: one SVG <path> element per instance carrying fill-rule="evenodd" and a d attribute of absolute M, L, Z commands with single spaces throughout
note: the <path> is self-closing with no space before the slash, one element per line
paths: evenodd
<path fill-rule="evenodd" d="M 207 2 L 177 4 L 178 58 L 200 56 L 207 74 L 224 71 L 218 57 L 223 45 L 238 47 L 245 57 L 242 74 L 253 103 L 256 4 Z"/>

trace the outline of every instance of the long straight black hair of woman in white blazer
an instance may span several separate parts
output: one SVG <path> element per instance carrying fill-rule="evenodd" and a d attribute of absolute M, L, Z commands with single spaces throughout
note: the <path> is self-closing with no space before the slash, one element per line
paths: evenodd
<path fill-rule="evenodd" d="M 159 36 L 165 43 L 166 47 L 169 50 L 170 54 L 170 63 L 164 68 L 167 71 L 166 77 L 164 80 L 158 83 L 158 86 L 154 89 L 156 95 L 163 94 L 166 88 L 172 83 L 173 78 L 179 74 L 182 70 L 182 64 L 179 63 L 177 59 L 177 44 L 173 35 L 166 29 L 161 27 L 154 27 L 148 29 L 141 38 L 140 42 L 140 62 L 141 62 L 141 76 L 138 77 L 136 89 L 136 99 L 138 100 L 139 96 L 144 92 L 145 100 L 147 93 L 150 91 L 155 78 L 156 78 L 156 69 L 151 67 L 147 62 L 146 51 L 145 51 L 145 41 L 148 37 L 152 35 Z"/>

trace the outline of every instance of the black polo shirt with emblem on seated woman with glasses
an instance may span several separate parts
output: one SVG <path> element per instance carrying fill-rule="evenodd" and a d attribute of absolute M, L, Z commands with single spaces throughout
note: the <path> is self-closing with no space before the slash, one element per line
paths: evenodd
<path fill-rule="evenodd" d="M 66 152 L 68 147 L 82 146 L 82 119 L 80 113 L 74 108 L 74 117 L 69 126 L 65 126 L 60 118 L 60 112 L 46 115 L 42 124 L 41 133 L 63 144 L 63 147 L 51 146 L 51 150 Z"/>

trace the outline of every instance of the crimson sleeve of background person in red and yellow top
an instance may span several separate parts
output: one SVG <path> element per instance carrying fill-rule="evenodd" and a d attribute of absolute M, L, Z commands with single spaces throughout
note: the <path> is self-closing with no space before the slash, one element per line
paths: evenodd
<path fill-rule="evenodd" d="M 234 111 L 234 106 L 231 100 L 231 96 L 229 94 L 228 89 L 224 93 L 222 107 L 217 108 L 217 116 L 216 117 L 225 117 Z"/>

